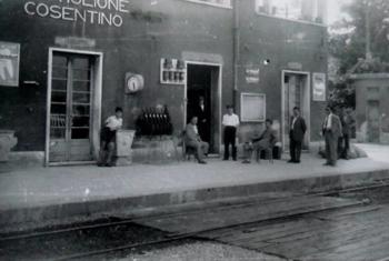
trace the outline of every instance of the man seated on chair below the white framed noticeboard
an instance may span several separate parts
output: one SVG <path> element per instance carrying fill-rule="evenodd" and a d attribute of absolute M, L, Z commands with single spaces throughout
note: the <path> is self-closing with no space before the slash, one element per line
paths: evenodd
<path fill-rule="evenodd" d="M 243 157 L 242 163 L 250 163 L 252 158 L 252 152 L 260 152 L 271 148 L 277 141 L 277 133 L 272 129 L 272 120 L 266 120 L 266 129 L 259 138 L 251 139 L 251 142 L 246 142 L 243 144 Z M 272 152 L 271 152 L 272 153 Z"/>

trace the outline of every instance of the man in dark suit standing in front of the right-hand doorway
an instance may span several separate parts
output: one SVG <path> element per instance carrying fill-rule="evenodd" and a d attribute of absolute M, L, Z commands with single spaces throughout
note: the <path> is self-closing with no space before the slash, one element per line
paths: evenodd
<path fill-rule="evenodd" d="M 290 160 L 289 163 L 300 163 L 301 148 L 303 135 L 307 131 L 307 124 L 303 118 L 300 116 L 300 108 L 293 108 L 293 117 L 290 122 L 289 131 L 289 151 Z"/>

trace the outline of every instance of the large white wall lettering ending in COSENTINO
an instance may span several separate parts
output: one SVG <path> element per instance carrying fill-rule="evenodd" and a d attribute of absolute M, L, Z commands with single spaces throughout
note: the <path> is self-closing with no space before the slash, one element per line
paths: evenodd
<path fill-rule="evenodd" d="M 129 0 L 34 0 L 24 3 L 29 16 L 71 22 L 121 27 Z"/>

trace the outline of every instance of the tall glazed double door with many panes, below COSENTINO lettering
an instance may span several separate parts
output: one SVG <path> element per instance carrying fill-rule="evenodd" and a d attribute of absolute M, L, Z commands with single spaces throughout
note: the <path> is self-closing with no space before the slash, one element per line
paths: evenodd
<path fill-rule="evenodd" d="M 92 57 L 54 52 L 50 101 L 50 162 L 92 160 Z"/>

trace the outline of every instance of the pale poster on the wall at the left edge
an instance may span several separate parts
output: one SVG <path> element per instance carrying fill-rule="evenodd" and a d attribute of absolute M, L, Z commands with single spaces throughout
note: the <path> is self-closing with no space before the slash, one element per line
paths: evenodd
<path fill-rule="evenodd" d="M 0 86 L 19 86 L 20 44 L 0 42 Z"/>

